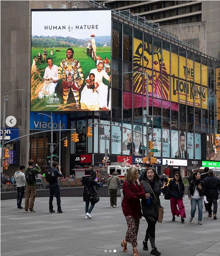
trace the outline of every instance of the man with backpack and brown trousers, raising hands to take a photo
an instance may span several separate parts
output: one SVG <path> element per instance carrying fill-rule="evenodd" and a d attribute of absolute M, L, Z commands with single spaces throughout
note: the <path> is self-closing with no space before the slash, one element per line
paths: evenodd
<path fill-rule="evenodd" d="M 33 209 L 36 197 L 36 175 L 41 173 L 41 168 L 33 160 L 28 161 L 28 168 L 25 169 L 26 192 L 25 192 L 25 212 L 35 212 Z"/>

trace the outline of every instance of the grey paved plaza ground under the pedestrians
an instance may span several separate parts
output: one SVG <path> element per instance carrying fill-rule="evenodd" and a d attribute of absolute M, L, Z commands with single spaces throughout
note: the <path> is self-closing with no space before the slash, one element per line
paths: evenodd
<path fill-rule="evenodd" d="M 156 246 L 162 256 L 220 256 L 219 202 L 218 219 L 209 218 L 203 210 L 203 225 L 198 225 L 198 213 L 192 223 L 188 221 L 190 200 L 185 197 L 187 219 L 181 224 L 180 217 L 171 221 L 170 202 L 161 198 L 165 216 L 156 225 Z M 120 246 L 126 233 L 120 198 L 118 208 L 110 208 L 109 198 L 102 197 L 91 213 L 93 219 L 88 220 L 81 197 L 62 197 L 63 214 L 49 213 L 48 201 L 36 198 L 35 213 L 17 210 L 16 200 L 1 201 L 1 256 L 133 256 L 131 245 L 128 253 Z M 140 256 L 150 255 L 142 245 L 146 227 L 141 219 Z"/>

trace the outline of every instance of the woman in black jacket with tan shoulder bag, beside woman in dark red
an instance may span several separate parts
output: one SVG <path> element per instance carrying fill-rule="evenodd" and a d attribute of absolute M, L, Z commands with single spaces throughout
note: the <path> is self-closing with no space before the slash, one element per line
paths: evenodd
<path fill-rule="evenodd" d="M 159 195 L 161 190 L 163 193 L 167 194 L 168 188 L 166 183 L 162 184 L 159 180 L 158 174 L 153 168 L 149 168 L 144 174 L 141 181 L 144 191 L 146 193 L 146 198 L 141 200 L 141 206 L 143 211 L 143 216 L 145 217 L 148 228 L 146 230 L 146 236 L 143 240 L 143 250 L 148 250 L 148 239 L 151 243 L 151 254 L 160 255 L 161 253 L 157 250 L 155 245 L 155 226 L 157 223 L 157 212 L 160 205 Z M 153 193 L 153 191 L 154 193 Z M 154 196 L 155 195 L 155 196 Z M 156 198 L 155 198 L 156 197 Z"/>

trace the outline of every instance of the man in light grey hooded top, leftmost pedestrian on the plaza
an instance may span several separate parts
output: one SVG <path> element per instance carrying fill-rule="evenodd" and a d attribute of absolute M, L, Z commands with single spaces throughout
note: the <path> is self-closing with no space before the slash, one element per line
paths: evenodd
<path fill-rule="evenodd" d="M 14 179 L 15 179 L 16 185 L 17 185 L 17 208 L 18 209 L 24 208 L 24 207 L 22 207 L 22 198 L 25 194 L 25 183 L 26 183 L 24 170 L 25 170 L 25 166 L 21 165 L 19 167 L 19 171 L 17 171 L 14 174 Z"/>

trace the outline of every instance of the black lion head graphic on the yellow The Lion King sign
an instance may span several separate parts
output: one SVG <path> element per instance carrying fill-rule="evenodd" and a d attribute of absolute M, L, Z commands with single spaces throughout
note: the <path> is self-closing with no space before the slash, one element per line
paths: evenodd
<path fill-rule="evenodd" d="M 134 39 L 134 92 L 146 94 L 146 80 L 143 80 L 143 75 L 138 73 L 142 67 L 152 69 L 154 64 L 153 75 L 148 75 L 149 94 L 151 87 L 155 98 L 169 100 L 169 75 L 165 63 L 162 62 L 161 48 L 148 42 L 142 43 L 138 39 Z M 152 63 L 153 58 L 153 63 Z M 161 75 L 161 73 L 163 73 Z M 163 77 L 163 82 L 162 82 Z M 144 87 L 143 87 L 144 84 Z"/>

